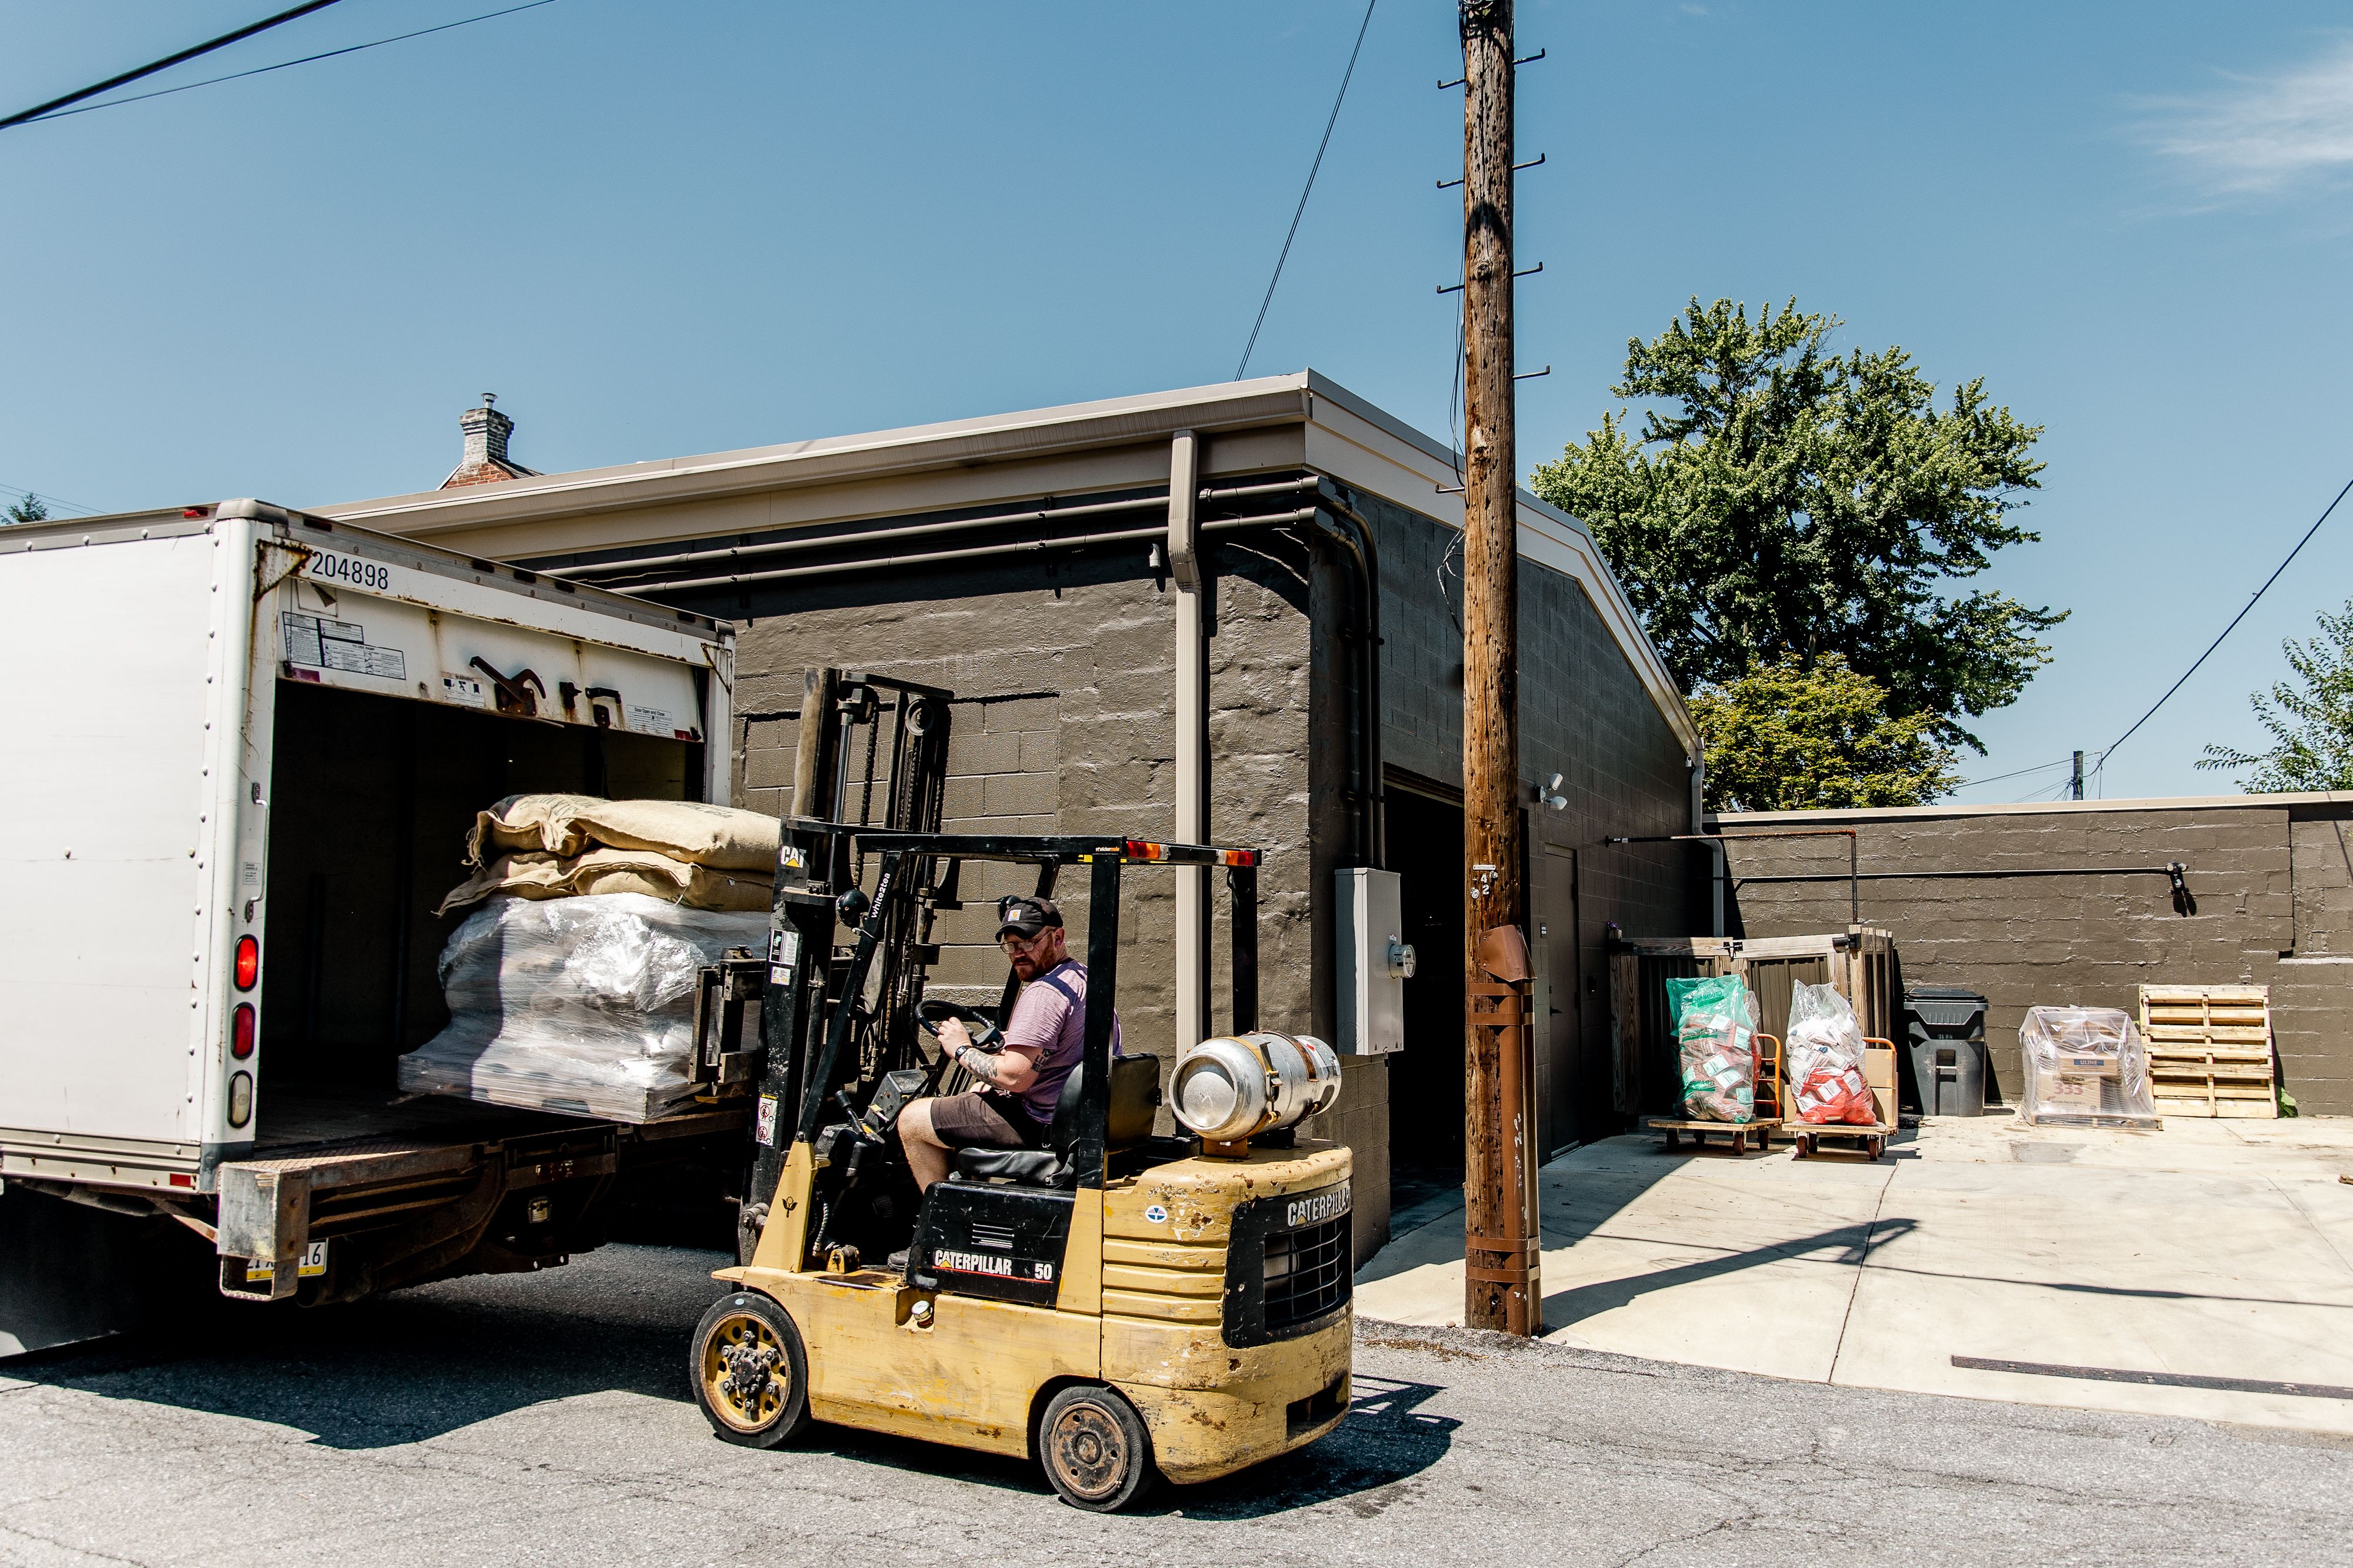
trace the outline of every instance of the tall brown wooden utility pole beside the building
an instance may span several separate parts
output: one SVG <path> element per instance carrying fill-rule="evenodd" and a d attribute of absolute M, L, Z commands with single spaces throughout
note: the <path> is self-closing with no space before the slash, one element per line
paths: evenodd
<path fill-rule="evenodd" d="M 1511 0 L 1464 31 L 1464 1321 L 1539 1333 L 1534 1051 L 1520 886 L 1518 454 L 1511 371 Z"/>

